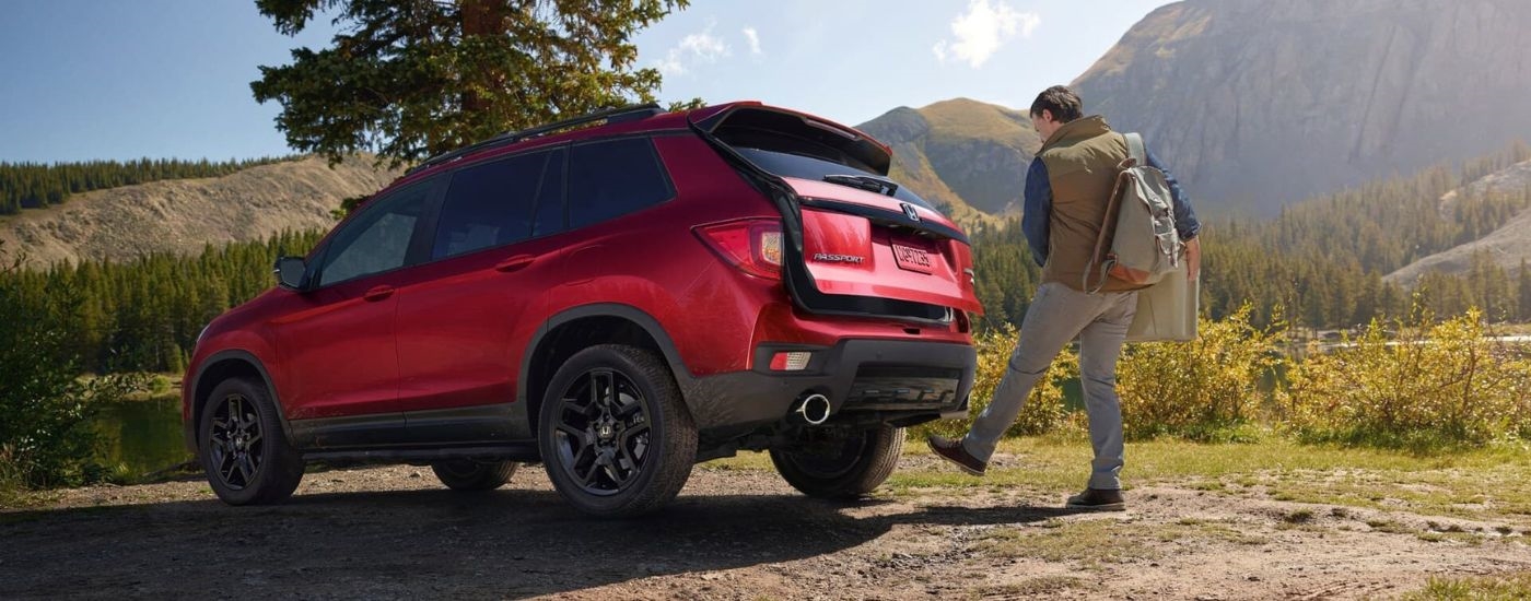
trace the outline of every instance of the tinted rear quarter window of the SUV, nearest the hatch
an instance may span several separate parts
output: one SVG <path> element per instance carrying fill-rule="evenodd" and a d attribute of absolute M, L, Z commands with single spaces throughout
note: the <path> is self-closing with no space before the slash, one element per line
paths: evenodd
<path fill-rule="evenodd" d="M 576 145 L 570 151 L 570 228 L 669 200 L 669 177 L 648 138 Z"/>

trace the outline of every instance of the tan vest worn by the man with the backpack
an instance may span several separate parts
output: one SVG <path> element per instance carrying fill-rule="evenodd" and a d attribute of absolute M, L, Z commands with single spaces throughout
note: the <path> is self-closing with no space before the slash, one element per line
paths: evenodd
<path fill-rule="evenodd" d="M 1084 272 L 1105 222 L 1105 206 L 1116 185 L 1118 165 L 1127 159 L 1127 139 L 1095 115 L 1064 124 L 1036 151 L 1052 187 L 1052 219 L 1043 281 L 1084 289 Z M 1108 278 L 1101 292 L 1138 289 Z"/>

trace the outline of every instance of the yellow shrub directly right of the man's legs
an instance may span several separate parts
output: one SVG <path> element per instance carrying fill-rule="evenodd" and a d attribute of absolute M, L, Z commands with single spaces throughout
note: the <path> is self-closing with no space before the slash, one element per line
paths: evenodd
<path fill-rule="evenodd" d="M 1202 320 L 1191 343 L 1130 344 L 1116 365 L 1128 437 L 1246 437 L 1260 417 L 1260 381 L 1285 362 L 1285 327 L 1249 323 L 1245 304 L 1222 321 Z"/>

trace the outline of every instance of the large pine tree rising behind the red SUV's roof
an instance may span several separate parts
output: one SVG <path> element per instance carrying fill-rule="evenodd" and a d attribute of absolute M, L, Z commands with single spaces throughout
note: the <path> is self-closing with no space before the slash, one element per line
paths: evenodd
<path fill-rule="evenodd" d="M 332 46 L 299 47 L 250 84 L 277 101 L 288 144 L 395 165 L 559 116 L 652 101 L 634 35 L 689 0 L 260 0 L 282 34 L 337 14 Z M 524 6 L 522 6 L 524 5 Z M 371 144 L 369 144 L 371 142 Z M 366 147 L 364 147 L 366 144 Z"/>

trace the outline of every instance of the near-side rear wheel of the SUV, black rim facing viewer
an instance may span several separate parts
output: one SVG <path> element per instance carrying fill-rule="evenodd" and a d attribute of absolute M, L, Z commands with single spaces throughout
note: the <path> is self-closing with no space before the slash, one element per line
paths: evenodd
<path fill-rule="evenodd" d="M 669 367 L 620 344 L 559 367 L 537 411 L 537 443 L 559 495 L 597 517 L 660 509 L 697 462 L 697 425 Z"/>

